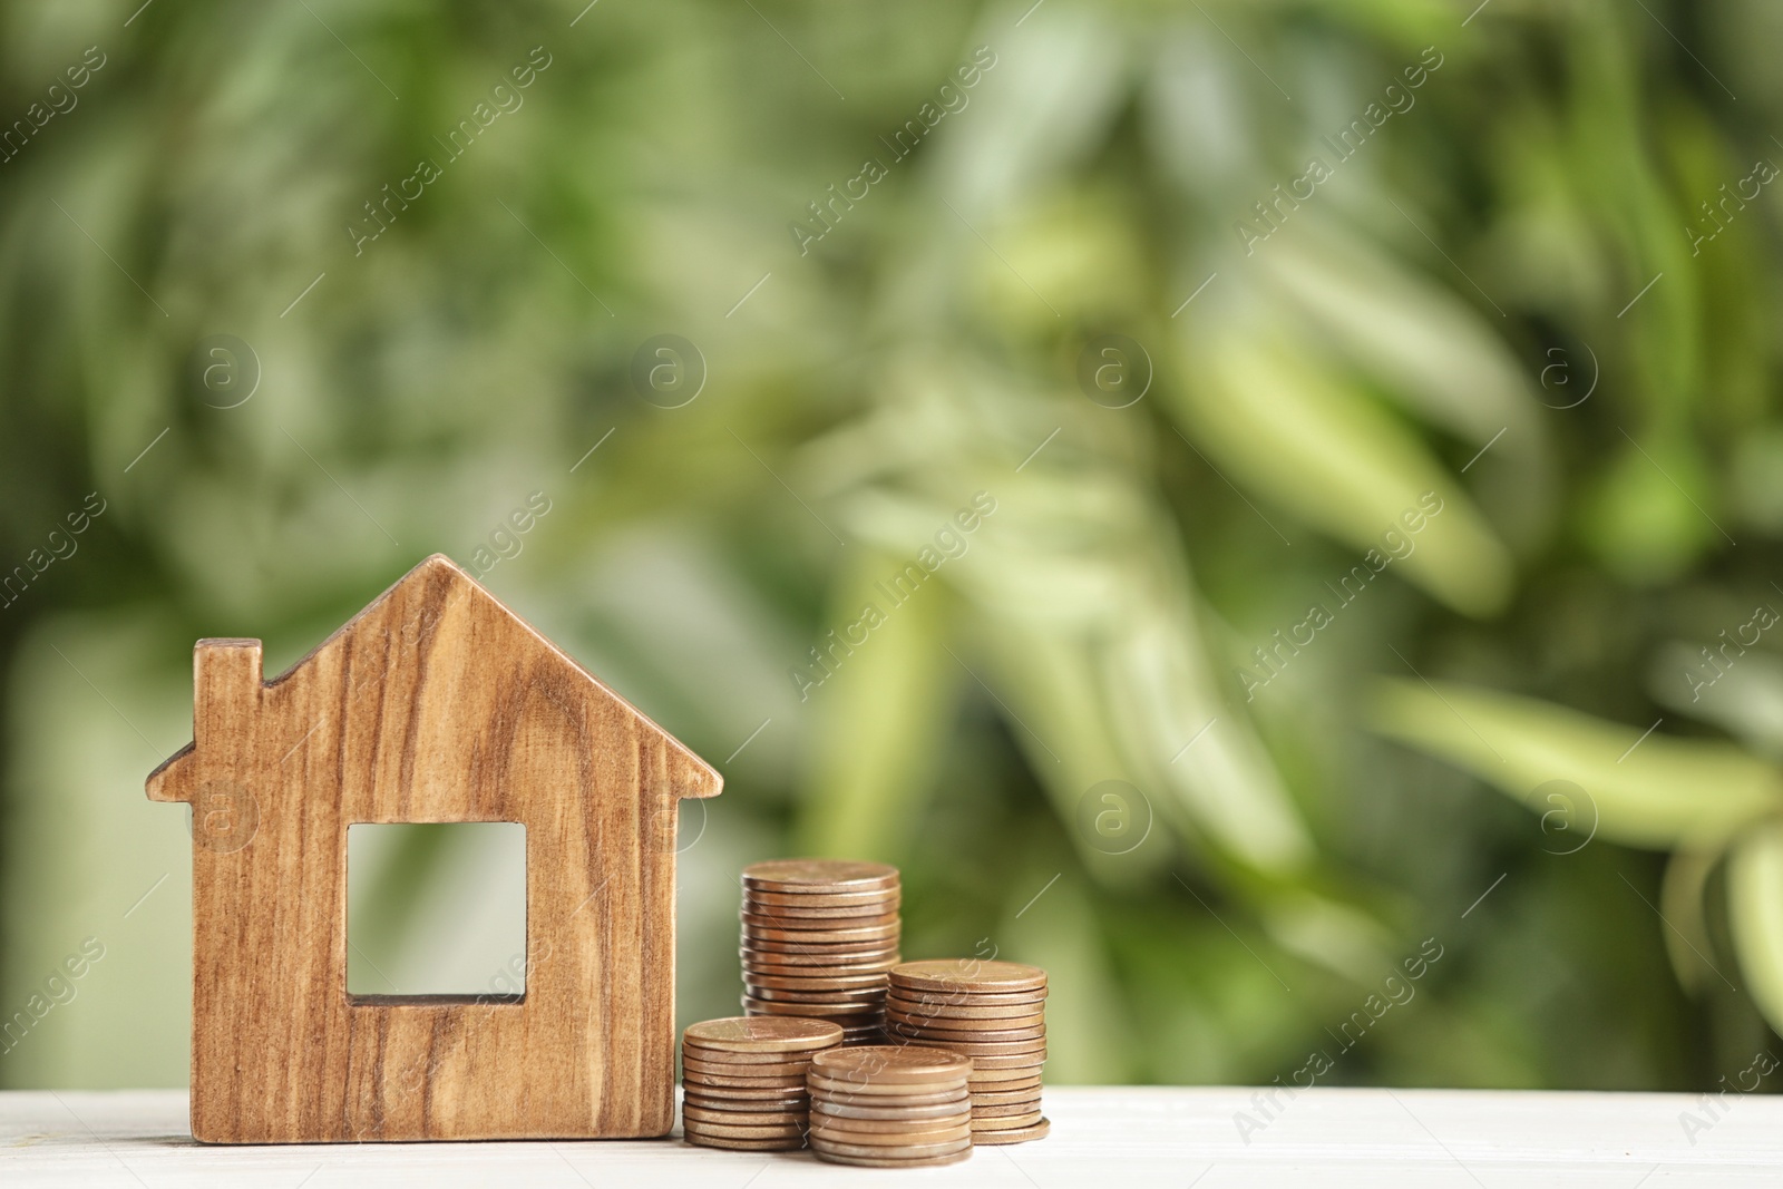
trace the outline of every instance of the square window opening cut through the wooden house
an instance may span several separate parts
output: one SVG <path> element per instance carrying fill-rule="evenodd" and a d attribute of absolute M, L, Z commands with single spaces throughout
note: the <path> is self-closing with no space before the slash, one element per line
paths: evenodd
<path fill-rule="evenodd" d="M 349 996 L 519 1002 L 526 991 L 526 827 L 348 825 L 346 941 Z"/>

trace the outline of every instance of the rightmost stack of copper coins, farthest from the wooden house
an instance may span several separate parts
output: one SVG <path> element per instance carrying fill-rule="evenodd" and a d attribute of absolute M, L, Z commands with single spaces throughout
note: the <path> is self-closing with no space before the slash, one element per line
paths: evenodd
<path fill-rule="evenodd" d="M 949 959 L 892 970 L 886 1032 L 893 1041 L 972 1059 L 972 1141 L 1039 1139 L 1039 1068 L 1047 1064 L 1047 972 L 1016 963 Z"/>

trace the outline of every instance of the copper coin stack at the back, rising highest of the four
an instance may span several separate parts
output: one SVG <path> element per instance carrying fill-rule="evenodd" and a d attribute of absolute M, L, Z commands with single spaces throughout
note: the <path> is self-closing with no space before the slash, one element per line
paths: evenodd
<path fill-rule="evenodd" d="M 884 1039 L 886 972 L 899 963 L 895 866 L 781 859 L 744 868 L 744 1011 Z"/>

